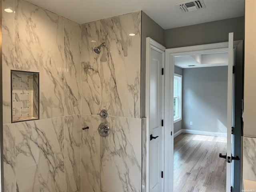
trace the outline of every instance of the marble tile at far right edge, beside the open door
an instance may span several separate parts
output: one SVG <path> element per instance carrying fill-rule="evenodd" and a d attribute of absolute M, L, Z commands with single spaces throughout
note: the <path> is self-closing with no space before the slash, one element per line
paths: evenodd
<path fill-rule="evenodd" d="M 256 138 L 244 137 L 243 179 L 256 181 Z"/>

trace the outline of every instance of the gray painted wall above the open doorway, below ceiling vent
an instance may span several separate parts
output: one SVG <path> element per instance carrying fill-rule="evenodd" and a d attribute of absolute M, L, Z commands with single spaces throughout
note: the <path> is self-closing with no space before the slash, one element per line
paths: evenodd
<path fill-rule="evenodd" d="M 229 32 L 234 32 L 234 40 L 243 40 L 244 17 L 165 30 L 165 45 L 166 48 L 176 48 L 226 42 Z"/>

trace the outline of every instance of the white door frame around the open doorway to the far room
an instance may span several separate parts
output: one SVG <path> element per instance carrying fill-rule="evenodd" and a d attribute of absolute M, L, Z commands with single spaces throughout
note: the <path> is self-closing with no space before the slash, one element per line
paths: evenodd
<path fill-rule="evenodd" d="M 236 47 L 242 40 L 234 41 Z M 173 189 L 173 154 L 174 154 L 174 124 L 173 118 L 173 78 L 174 57 L 189 54 L 209 54 L 228 52 L 228 42 L 170 48 L 165 50 L 165 88 L 164 88 L 164 191 L 172 192 Z M 171 99 L 170 99 L 171 98 Z M 170 136 L 172 135 L 172 136 Z"/>

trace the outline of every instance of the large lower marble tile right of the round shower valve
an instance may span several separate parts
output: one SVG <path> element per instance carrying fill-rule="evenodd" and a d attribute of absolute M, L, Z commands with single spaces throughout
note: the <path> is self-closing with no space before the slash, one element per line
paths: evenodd
<path fill-rule="evenodd" d="M 110 134 L 100 137 L 100 189 L 141 191 L 141 119 L 108 117 Z"/>

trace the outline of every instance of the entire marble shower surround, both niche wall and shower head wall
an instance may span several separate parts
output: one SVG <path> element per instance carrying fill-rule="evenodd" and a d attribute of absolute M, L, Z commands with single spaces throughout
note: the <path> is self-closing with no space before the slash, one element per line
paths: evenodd
<path fill-rule="evenodd" d="M 141 13 L 80 26 L 23 0 L 7 6 L 15 14 L 2 18 L 5 191 L 141 191 Z M 11 124 L 10 70 L 40 73 L 40 120 Z"/>

